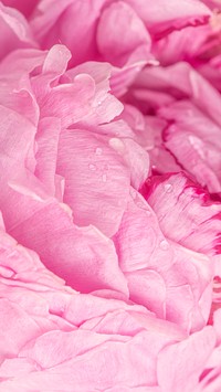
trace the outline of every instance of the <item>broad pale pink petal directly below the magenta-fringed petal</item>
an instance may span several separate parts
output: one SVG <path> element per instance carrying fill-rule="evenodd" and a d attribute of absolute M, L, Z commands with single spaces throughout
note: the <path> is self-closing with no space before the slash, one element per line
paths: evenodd
<path fill-rule="evenodd" d="M 131 190 L 114 239 L 130 299 L 188 331 L 199 330 L 210 312 L 212 262 L 204 254 L 181 246 L 176 239 L 167 239 L 157 218 L 139 193 Z"/>

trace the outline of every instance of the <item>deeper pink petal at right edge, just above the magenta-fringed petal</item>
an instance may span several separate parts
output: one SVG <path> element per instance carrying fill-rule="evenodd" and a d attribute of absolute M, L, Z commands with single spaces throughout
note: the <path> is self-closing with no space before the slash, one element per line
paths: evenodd
<path fill-rule="evenodd" d="M 180 166 L 211 193 L 221 192 L 220 127 L 187 100 L 159 113 L 172 123 L 165 131 L 165 145 Z"/>

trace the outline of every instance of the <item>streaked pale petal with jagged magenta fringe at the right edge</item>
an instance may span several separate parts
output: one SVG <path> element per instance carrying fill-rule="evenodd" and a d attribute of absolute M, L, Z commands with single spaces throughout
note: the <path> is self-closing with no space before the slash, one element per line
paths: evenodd
<path fill-rule="evenodd" d="M 197 252 L 219 253 L 220 205 L 182 173 L 154 177 L 150 183 L 148 202 L 164 234 Z"/>

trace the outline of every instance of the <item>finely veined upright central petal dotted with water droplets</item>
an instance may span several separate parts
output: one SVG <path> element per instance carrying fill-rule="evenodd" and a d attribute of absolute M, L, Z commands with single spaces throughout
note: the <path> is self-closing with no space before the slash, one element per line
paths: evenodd
<path fill-rule="evenodd" d="M 122 144 L 122 141 L 118 141 Z M 74 159 L 72 159 L 74 157 Z M 129 170 L 112 139 L 86 130 L 61 134 L 57 173 L 65 179 L 64 201 L 74 222 L 94 224 L 108 236 L 118 229 L 129 193 Z"/>

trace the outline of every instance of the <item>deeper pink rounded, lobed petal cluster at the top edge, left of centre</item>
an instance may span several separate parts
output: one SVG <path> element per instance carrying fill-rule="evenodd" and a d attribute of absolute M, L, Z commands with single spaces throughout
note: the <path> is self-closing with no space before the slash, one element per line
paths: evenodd
<path fill-rule="evenodd" d="M 125 35 L 128 23 L 131 29 Z M 91 4 L 66 0 L 55 7 L 54 1 L 41 1 L 31 25 L 43 47 L 63 42 L 73 53 L 75 64 L 103 57 L 114 65 L 124 65 L 130 55 L 134 61 L 150 57 L 149 33 L 126 1 L 108 4 L 96 0 Z M 120 42 L 119 34 L 124 35 Z"/>

